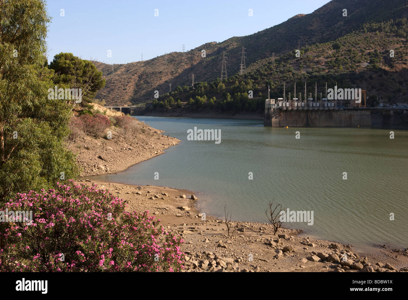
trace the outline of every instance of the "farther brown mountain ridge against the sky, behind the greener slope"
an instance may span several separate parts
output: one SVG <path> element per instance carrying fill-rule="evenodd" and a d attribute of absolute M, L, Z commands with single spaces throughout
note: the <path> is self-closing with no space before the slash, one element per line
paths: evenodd
<path fill-rule="evenodd" d="M 343 16 L 347 9 L 347 16 Z M 332 0 L 306 15 L 297 15 L 286 22 L 257 33 L 233 37 L 224 42 L 208 42 L 187 52 L 172 52 L 151 60 L 128 64 L 95 62 L 103 72 L 106 85 L 96 98 L 106 105 L 137 104 L 153 100 L 155 90 L 160 94 L 172 87 L 195 82 L 213 81 L 221 75 L 222 53 L 227 57 L 228 76 L 239 72 L 242 46 L 245 47 L 246 65 L 284 56 L 300 47 L 324 44 L 357 31 L 368 22 L 407 18 L 408 0 Z M 201 57 L 202 49 L 206 57 Z"/>

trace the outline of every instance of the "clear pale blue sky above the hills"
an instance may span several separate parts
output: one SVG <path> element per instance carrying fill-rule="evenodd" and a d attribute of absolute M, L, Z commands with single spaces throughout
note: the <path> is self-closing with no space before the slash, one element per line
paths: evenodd
<path fill-rule="evenodd" d="M 46 0 L 48 60 L 60 52 L 127 63 L 246 36 L 329 0 Z M 64 9 L 65 16 L 60 16 Z M 155 9 L 159 16 L 155 17 Z M 253 16 L 248 16 L 248 10 Z M 107 51 L 112 57 L 107 57 Z"/>

